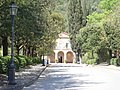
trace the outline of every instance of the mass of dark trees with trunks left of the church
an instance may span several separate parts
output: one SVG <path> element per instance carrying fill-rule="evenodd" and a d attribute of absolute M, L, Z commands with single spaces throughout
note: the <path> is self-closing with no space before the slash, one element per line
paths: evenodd
<path fill-rule="evenodd" d="M 27 58 L 36 56 L 41 58 L 42 55 L 51 54 L 58 34 L 63 31 L 64 18 L 55 11 L 57 6 L 52 0 L 14 0 L 14 2 L 18 6 L 14 32 L 14 54 L 18 58 L 14 59 L 16 67 L 19 67 L 16 61 L 21 63 L 25 61 L 20 55 Z M 11 53 L 10 3 L 11 0 L 0 0 L 0 46 L 2 46 L 0 52 L 2 51 L 1 54 L 5 57 L 4 60 L 4 57 L 0 58 L 2 69 L 7 68 L 10 58 L 6 57 L 10 57 L 8 55 Z"/>

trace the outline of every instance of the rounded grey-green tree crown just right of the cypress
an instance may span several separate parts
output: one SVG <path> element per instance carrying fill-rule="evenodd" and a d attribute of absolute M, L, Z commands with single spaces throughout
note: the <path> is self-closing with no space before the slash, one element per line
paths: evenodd
<path fill-rule="evenodd" d="M 101 24 L 90 24 L 82 28 L 77 35 L 77 42 L 83 51 L 97 51 L 106 45 L 105 32 Z"/>

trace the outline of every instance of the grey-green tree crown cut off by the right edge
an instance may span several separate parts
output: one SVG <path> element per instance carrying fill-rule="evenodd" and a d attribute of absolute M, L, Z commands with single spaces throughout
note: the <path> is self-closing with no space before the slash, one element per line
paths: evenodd
<path fill-rule="evenodd" d="M 120 49 L 120 12 L 119 7 L 120 3 L 116 5 L 113 13 L 111 13 L 106 21 L 104 22 L 104 30 L 106 32 L 108 47 L 113 50 Z"/>

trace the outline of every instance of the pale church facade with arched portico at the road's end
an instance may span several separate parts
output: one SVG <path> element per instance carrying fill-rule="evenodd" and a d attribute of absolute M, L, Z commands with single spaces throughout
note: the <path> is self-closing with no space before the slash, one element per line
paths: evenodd
<path fill-rule="evenodd" d="M 59 34 L 54 53 L 49 58 L 51 63 L 75 62 L 75 53 L 72 51 L 70 38 L 67 33 L 63 32 Z"/>

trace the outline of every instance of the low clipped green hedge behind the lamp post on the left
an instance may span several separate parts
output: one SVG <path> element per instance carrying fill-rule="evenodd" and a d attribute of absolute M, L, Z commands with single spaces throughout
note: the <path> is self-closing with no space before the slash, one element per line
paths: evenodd
<path fill-rule="evenodd" d="M 0 74 L 7 74 L 8 65 L 10 63 L 11 56 L 0 56 Z M 41 63 L 38 57 L 27 57 L 27 56 L 15 56 L 14 64 L 15 70 L 19 71 L 20 68 L 24 68 L 28 65 L 35 65 Z"/>

